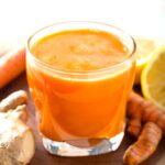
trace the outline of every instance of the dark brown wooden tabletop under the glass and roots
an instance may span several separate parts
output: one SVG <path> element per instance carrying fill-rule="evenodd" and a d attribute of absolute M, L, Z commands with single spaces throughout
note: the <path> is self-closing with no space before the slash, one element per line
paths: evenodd
<path fill-rule="evenodd" d="M 0 90 L 0 99 L 4 98 L 12 91 L 24 89 L 29 92 L 25 74 L 22 74 L 14 81 Z M 29 95 L 29 114 L 28 124 L 33 129 L 36 141 L 36 150 L 30 165 L 122 165 L 122 156 L 128 146 L 135 141 L 129 134 L 125 134 L 124 140 L 118 151 L 99 156 L 88 157 L 61 157 L 48 154 L 41 142 L 41 138 L 36 130 L 34 106 Z M 157 151 L 143 165 L 164 165 L 165 164 L 165 138 L 162 140 Z"/>

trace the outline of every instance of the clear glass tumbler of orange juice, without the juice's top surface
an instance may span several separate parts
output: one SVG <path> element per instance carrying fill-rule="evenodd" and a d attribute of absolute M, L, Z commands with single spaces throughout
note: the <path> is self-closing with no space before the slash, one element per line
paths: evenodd
<path fill-rule="evenodd" d="M 35 57 L 31 47 L 63 31 L 99 30 L 116 35 L 129 53 L 103 69 L 64 72 Z M 124 135 L 125 106 L 135 75 L 135 43 L 122 30 L 96 22 L 63 22 L 35 32 L 26 45 L 26 75 L 45 148 L 86 156 L 116 151 Z M 45 54 L 46 57 L 46 54 Z"/>

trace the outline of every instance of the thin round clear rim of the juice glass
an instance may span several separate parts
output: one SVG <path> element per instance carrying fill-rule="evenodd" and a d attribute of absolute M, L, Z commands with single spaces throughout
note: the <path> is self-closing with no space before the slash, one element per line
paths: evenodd
<path fill-rule="evenodd" d="M 125 36 L 128 36 L 131 41 L 132 41 L 132 50 L 131 52 L 128 54 L 128 56 L 117 63 L 117 64 L 113 64 L 111 66 L 108 66 L 108 67 L 102 67 L 100 69 L 95 69 L 95 70 L 82 70 L 82 72 L 67 72 L 67 70 L 64 70 L 64 69 L 58 69 L 58 68 L 55 68 L 53 67 L 52 65 L 41 61 L 40 58 L 35 57 L 33 55 L 33 53 L 31 52 L 31 48 L 30 48 L 30 43 L 32 41 L 32 38 L 37 35 L 40 32 L 48 29 L 48 28 L 52 28 L 52 26 L 55 26 L 55 25 L 61 25 L 61 24 L 67 24 L 67 23 L 88 23 L 88 24 L 96 24 L 96 25 L 102 25 L 102 26 L 107 26 L 107 28 L 111 28 L 113 30 L 117 30 L 119 31 L 120 33 L 124 34 Z M 84 28 L 82 28 L 84 29 Z M 73 30 L 73 29 L 68 29 L 68 30 Z M 97 29 L 96 30 L 100 30 L 100 29 Z M 62 30 L 63 31 L 63 30 Z M 62 32 L 62 31 L 58 31 L 58 32 Z M 103 31 L 103 30 L 101 30 Z M 53 34 L 53 33 L 52 33 Z M 45 35 L 46 36 L 46 35 Z M 44 37 L 44 36 L 43 36 Z M 42 38 L 42 37 L 41 37 Z M 135 44 L 135 41 L 134 38 L 129 34 L 127 33 L 125 31 L 123 31 L 122 29 L 118 28 L 118 26 L 114 26 L 114 25 L 111 25 L 111 24 L 108 24 L 108 23 L 102 23 L 102 22 L 95 22 L 95 21 L 64 21 L 64 22 L 56 22 L 56 23 L 53 23 L 53 24 L 50 24 L 50 25 L 46 25 L 44 28 L 41 28 L 38 30 L 36 30 L 34 33 L 32 33 L 30 35 L 30 37 L 28 38 L 28 42 L 26 42 L 26 52 L 29 55 L 35 63 L 37 63 L 38 65 L 43 66 L 44 68 L 46 68 L 47 70 L 51 70 L 51 72 L 56 72 L 58 74 L 67 74 L 67 75 L 91 75 L 91 74 L 98 74 L 98 73 L 106 73 L 106 72 L 109 72 L 111 69 L 116 69 L 116 68 L 119 68 L 121 65 L 123 65 L 124 63 L 127 63 L 129 59 L 131 59 L 133 56 L 134 56 L 134 53 L 135 53 L 135 50 L 136 50 L 136 44 Z"/>

